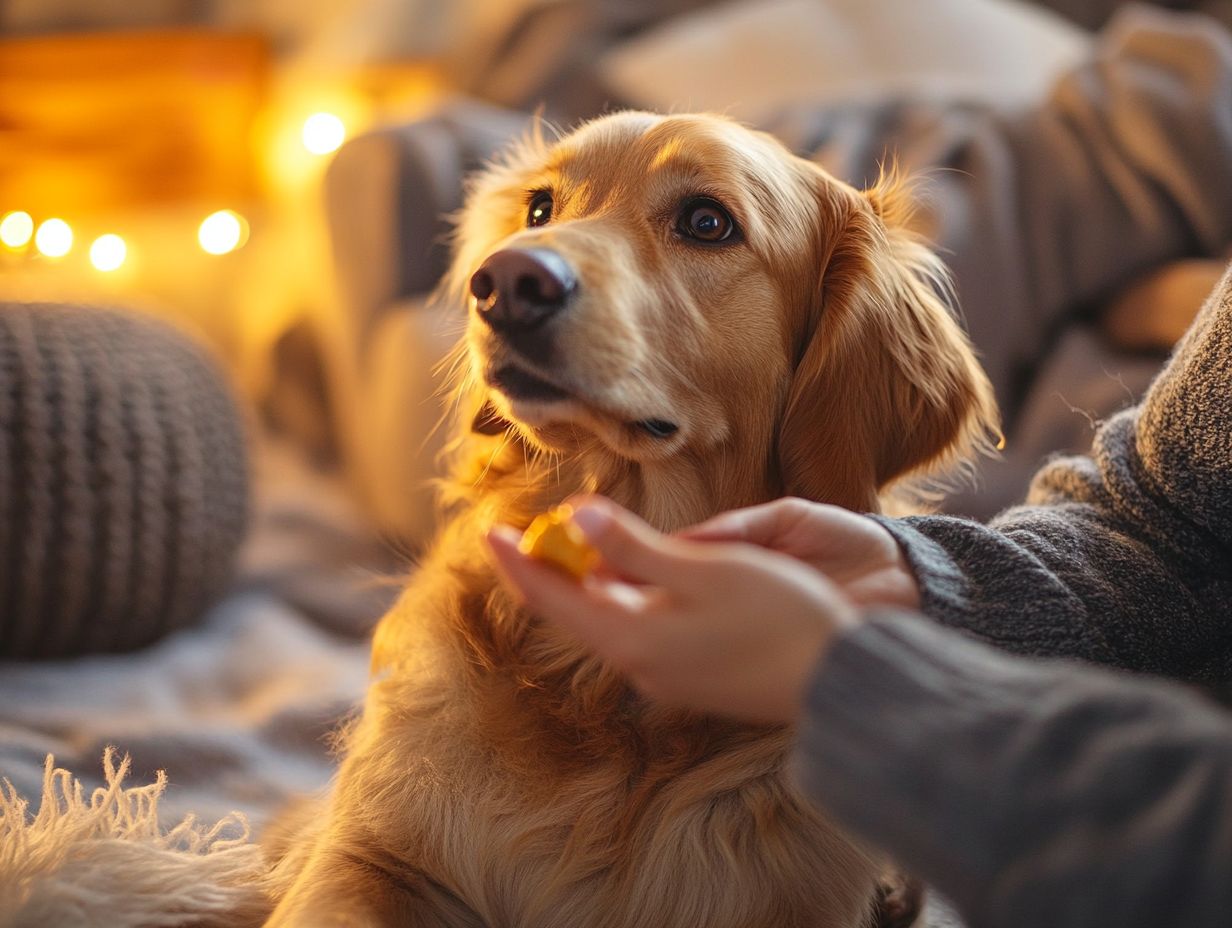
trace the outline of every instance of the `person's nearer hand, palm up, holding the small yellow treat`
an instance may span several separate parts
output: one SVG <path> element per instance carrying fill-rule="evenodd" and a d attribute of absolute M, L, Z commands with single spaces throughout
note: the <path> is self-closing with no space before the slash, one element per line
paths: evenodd
<path fill-rule="evenodd" d="M 573 520 L 605 573 L 578 583 L 488 535 L 506 582 L 543 619 L 582 640 L 669 705 L 755 722 L 791 722 L 822 654 L 857 617 L 811 567 L 754 545 L 662 535 L 602 498 Z"/>

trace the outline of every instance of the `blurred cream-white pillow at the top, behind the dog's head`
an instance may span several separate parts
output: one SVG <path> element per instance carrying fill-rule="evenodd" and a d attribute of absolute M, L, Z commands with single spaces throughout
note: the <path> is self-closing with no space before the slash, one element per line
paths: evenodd
<path fill-rule="evenodd" d="M 904 94 L 1025 105 L 1090 41 L 1013 0 L 742 0 L 618 46 L 600 73 L 637 106 L 756 123 L 785 105 Z"/>

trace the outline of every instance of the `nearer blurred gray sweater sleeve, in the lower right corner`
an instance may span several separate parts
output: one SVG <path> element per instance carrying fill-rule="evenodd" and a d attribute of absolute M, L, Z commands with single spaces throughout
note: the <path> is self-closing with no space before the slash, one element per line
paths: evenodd
<path fill-rule="evenodd" d="M 1232 716 L 1193 694 L 883 613 L 807 706 L 802 789 L 970 924 L 1232 921 Z"/>

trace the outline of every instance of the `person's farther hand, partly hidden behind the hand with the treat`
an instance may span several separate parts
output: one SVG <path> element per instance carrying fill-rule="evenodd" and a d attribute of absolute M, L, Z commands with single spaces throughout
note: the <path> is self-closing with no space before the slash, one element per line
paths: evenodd
<path fill-rule="evenodd" d="M 736 509 L 685 529 L 694 541 L 737 541 L 788 555 L 824 573 L 860 605 L 918 609 L 919 584 L 894 536 L 867 516 L 806 499 Z"/>

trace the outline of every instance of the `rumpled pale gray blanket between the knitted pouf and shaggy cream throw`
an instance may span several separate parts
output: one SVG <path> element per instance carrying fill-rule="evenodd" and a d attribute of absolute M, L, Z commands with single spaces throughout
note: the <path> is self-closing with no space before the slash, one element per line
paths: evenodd
<path fill-rule="evenodd" d="M 365 633 L 395 566 L 340 487 L 287 449 L 257 452 L 257 519 L 232 590 L 192 629 L 129 654 L 0 664 L 0 776 L 37 800 L 43 760 L 101 785 L 165 769 L 165 823 L 230 811 L 260 824 L 333 770 L 328 736 L 367 682 Z"/>

